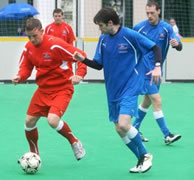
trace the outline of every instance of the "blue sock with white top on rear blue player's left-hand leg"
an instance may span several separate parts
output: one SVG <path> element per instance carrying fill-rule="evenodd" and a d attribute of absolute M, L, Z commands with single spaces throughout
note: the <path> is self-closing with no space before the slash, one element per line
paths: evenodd
<path fill-rule="evenodd" d="M 141 126 L 141 123 L 146 115 L 146 113 L 148 112 L 148 109 L 143 108 L 141 105 L 138 108 L 138 116 L 135 119 L 135 121 L 133 122 L 133 126 L 139 131 L 139 128 Z"/>

